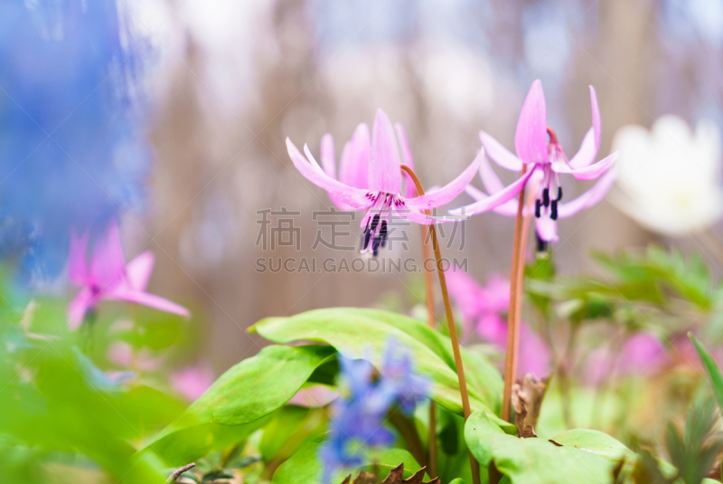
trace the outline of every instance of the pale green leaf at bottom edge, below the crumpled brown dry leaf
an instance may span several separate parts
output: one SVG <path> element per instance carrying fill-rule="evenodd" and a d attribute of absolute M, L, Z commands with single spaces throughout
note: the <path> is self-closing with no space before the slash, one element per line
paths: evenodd
<path fill-rule="evenodd" d="M 575 446 L 508 435 L 484 412 L 467 420 L 465 440 L 480 464 L 489 467 L 494 461 L 512 484 L 613 484 L 614 461 Z"/>

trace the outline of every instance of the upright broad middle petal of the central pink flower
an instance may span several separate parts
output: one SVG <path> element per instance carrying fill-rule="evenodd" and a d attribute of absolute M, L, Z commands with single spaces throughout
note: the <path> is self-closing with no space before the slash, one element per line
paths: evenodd
<path fill-rule="evenodd" d="M 384 111 L 377 110 L 371 127 L 371 155 L 369 158 L 369 188 L 372 192 L 398 195 L 401 189 L 399 149 L 394 128 Z"/>

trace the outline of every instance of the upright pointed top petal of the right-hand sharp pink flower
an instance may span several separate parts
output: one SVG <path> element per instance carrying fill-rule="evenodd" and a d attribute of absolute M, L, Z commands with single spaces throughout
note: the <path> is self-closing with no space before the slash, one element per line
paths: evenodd
<path fill-rule="evenodd" d="M 541 163 L 549 159 L 545 93 L 539 79 L 532 82 L 530 92 L 522 104 L 514 133 L 514 148 L 524 163 Z"/>

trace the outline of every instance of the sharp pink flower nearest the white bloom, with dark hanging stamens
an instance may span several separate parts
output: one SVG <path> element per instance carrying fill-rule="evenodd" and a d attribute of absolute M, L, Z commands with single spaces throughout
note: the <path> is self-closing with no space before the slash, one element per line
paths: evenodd
<path fill-rule="evenodd" d="M 590 86 L 593 126 L 587 131 L 577 154 L 568 159 L 559 145 L 558 137 L 552 128 L 547 126 L 545 95 L 542 83 L 534 81 L 522 105 L 520 119 L 517 122 L 514 144 L 517 155 L 513 155 L 505 147 L 484 131 L 480 139 L 484 153 L 497 165 L 508 170 L 527 171 L 517 181 L 502 186 L 488 163 L 483 163 L 480 176 L 490 195 L 484 194 L 473 187 L 467 193 L 477 201 L 465 207 L 451 210 L 450 214 L 480 214 L 495 210 L 500 214 L 517 214 L 517 204 L 512 200 L 534 177 L 533 185 L 537 185 L 535 194 L 535 228 L 544 242 L 557 242 L 557 220 L 569 217 L 599 202 L 615 181 L 615 170 L 610 167 L 617 158 L 617 152 L 593 163 L 600 148 L 600 109 L 597 106 L 595 89 Z M 577 180 L 593 180 L 602 177 L 593 188 L 578 196 L 567 204 L 561 204 L 562 186 L 560 175 L 572 175 Z"/>

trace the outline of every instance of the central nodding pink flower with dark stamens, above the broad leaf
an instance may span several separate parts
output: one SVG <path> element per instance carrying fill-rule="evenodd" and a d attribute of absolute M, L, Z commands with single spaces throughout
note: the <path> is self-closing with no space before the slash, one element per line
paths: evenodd
<path fill-rule="evenodd" d="M 363 128 L 362 128 L 363 130 Z M 359 137 L 358 145 L 366 149 L 363 135 Z M 455 219 L 433 217 L 424 214 L 425 210 L 431 210 L 447 204 L 459 195 L 477 171 L 477 168 L 484 157 L 484 150 L 481 150 L 470 166 L 461 175 L 448 185 L 439 188 L 433 193 L 416 197 L 409 197 L 407 193 L 401 194 L 401 162 L 399 160 L 399 149 L 390 119 L 379 109 L 377 111 L 374 125 L 371 128 L 371 141 L 369 141 L 369 168 L 367 170 L 367 186 L 360 187 L 351 185 L 352 176 L 344 183 L 329 176 L 316 162 L 314 156 L 305 145 L 302 156 L 298 148 L 286 138 L 286 148 L 296 169 L 313 184 L 326 190 L 333 200 L 342 202 L 355 210 L 366 210 L 367 214 L 362 218 L 362 253 L 371 253 L 376 256 L 380 247 L 384 247 L 389 233 L 389 224 L 392 215 L 399 215 L 411 222 L 431 225 L 437 222 L 454 222 Z M 350 148 L 352 149 L 352 148 Z M 404 150 L 405 159 L 408 158 L 408 150 Z M 366 159 L 363 156 L 356 157 L 356 163 Z M 355 163 L 350 160 L 350 163 Z M 363 170 L 357 170 L 355 173 Z M 356 185 L 361 184 L 362 177 L 353 177 Z"/>

